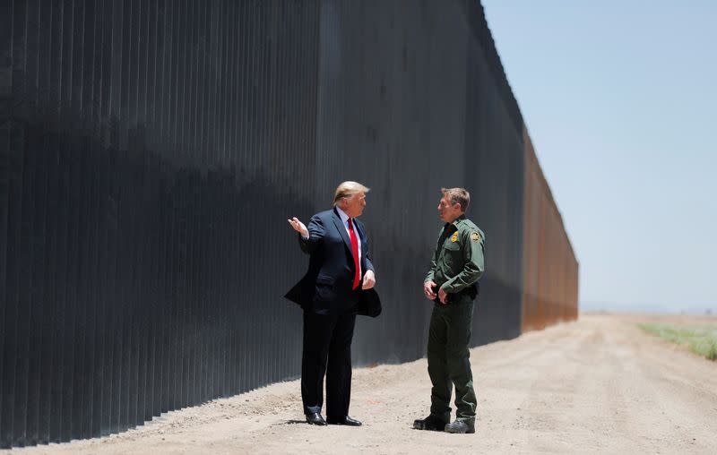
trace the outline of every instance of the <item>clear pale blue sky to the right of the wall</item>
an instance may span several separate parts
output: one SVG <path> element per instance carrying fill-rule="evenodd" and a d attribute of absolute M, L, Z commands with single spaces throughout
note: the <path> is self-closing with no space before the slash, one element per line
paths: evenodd
<path fill-rule="evenodd" d="M 717 310 L 717 1 L 482 4 L 581 305 Z"/>

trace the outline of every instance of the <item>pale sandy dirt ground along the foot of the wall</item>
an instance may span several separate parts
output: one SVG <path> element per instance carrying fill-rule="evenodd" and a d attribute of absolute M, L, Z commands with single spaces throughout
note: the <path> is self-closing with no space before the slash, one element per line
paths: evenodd
<path fill-rule="evenodd" d="M 124 434 L 13 453 L 717 453 L 717 363 L 636 322 L 717 318 L 582 314 L 471 350 L 476 434 L 410 428 L 428 414 L 425 359 L 354 370 L 359 428 L 307 425 L 298 381 L 155 418 Z"/>

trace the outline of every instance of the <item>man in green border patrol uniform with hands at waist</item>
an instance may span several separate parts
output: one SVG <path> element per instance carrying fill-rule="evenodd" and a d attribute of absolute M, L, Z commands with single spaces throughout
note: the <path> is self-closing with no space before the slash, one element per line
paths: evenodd
<path fill-rule="evenodd" d="M 473 325 L 473 300 L 483 275 L 485 235 L 465 217 L 471 194 L 463 188 L 441 188 L 438 211 L 445 226 L 438 236 L 423 292 L 436 302 L 428 328 L 428 375 L 431 414 L 416 420 L 419 430 L 475 433 L 476 394 L 468 344 Z M 451 419 L 455 386 L 456 419 Z"/>

